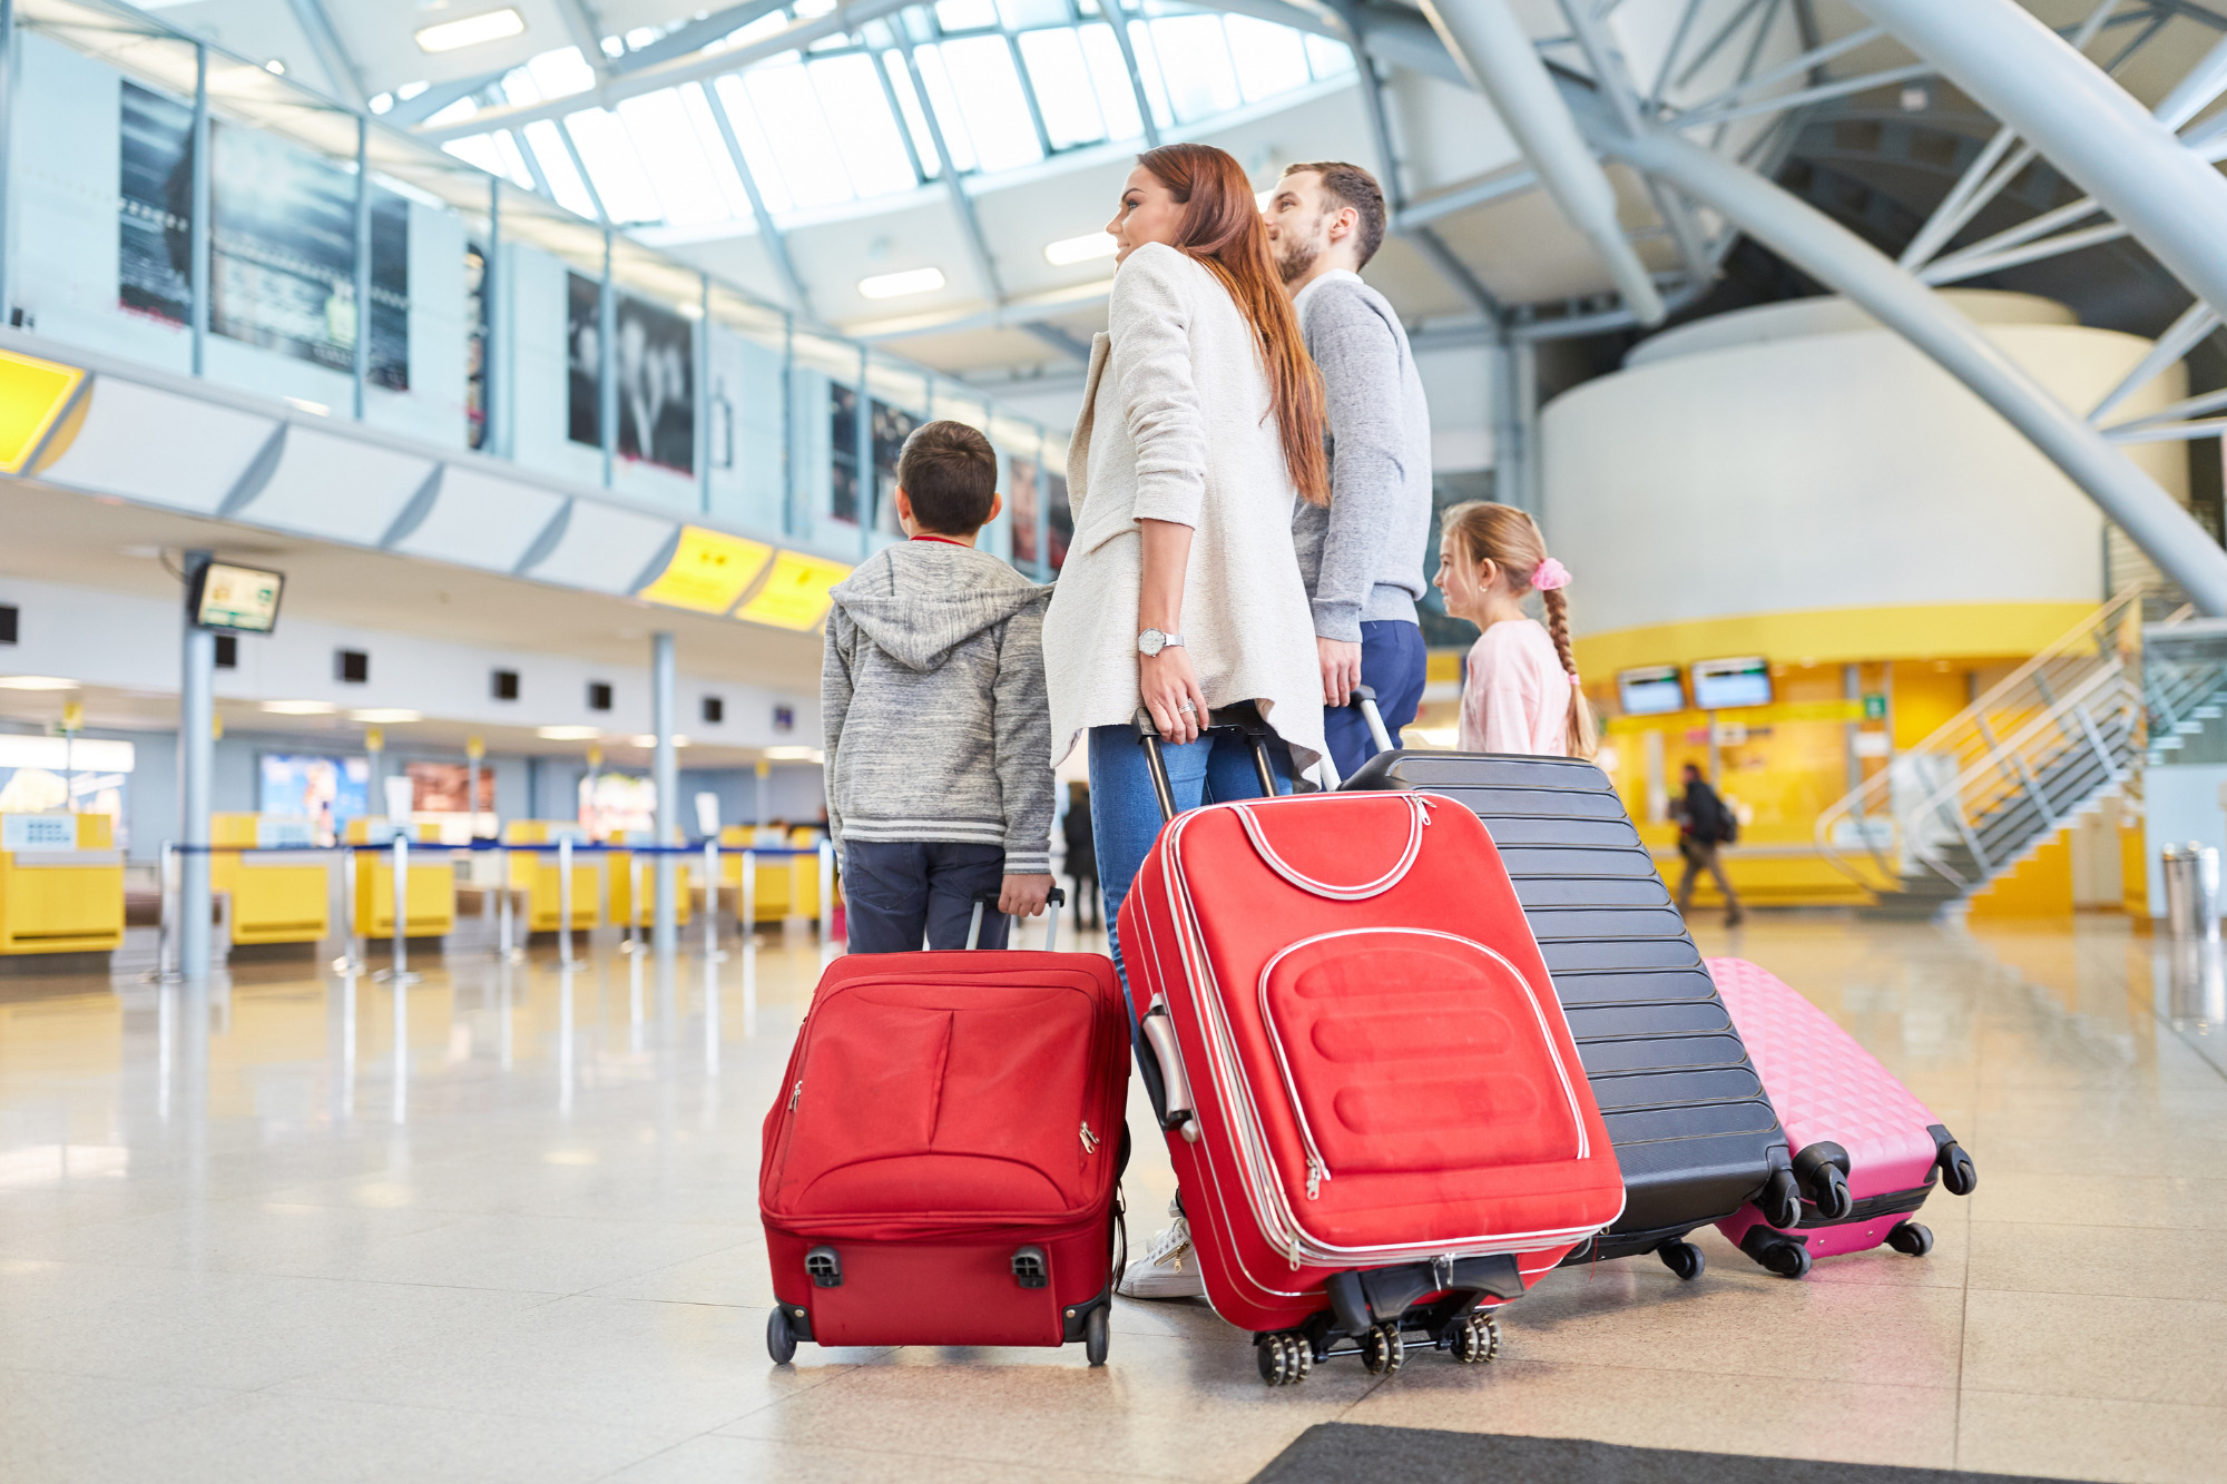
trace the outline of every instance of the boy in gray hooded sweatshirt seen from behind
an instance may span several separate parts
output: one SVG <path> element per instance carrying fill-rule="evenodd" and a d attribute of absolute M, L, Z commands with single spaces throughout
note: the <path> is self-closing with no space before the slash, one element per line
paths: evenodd
<path fill-rule="evenodd" d="M 926 423 L 897 457 L 911 537 L 835 586 L 820 711 L 828 829 L 853 954 L 1004 947 L 1002 914 L 1051 891 L 1047 590 L 975 550 L 1004 499 L 998 455 L 967 423 Z"/>

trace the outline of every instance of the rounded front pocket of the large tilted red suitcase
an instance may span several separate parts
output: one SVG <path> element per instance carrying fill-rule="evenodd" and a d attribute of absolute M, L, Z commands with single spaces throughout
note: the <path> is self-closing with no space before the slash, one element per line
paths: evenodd
<path fill-rule="evenodd" d="M 1305 938 L 1263 969 L 1260 1016 L 1309 1199 L 1336 1174 L 1588 1152 L 1539 994 L 1481 943 L 1399 927 Z"/>

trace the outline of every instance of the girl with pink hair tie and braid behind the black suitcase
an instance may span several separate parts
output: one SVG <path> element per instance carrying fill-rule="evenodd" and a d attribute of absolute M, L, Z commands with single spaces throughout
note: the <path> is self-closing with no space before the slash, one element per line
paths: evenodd
<path fill-rule="evenodd" d="M 1514 506 L 1452 506 L 1443 530 L 1434 582 L 1445 611 L 1483 631 L 1461 684 L 1461 751 L 1590 758 L 1599 738 L 1570 657 L 1568 568 Z M 1530 593 L 1546 624 L 1523 615 Z"/>

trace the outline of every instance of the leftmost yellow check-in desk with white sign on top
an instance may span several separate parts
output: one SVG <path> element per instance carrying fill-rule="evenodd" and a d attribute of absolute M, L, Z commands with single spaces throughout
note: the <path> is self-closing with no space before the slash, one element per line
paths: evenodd
<path fill-rule="evenodd" d="M 111 954 L 125 858 L 105 813 L 0 813 L 0 954 Z"/>

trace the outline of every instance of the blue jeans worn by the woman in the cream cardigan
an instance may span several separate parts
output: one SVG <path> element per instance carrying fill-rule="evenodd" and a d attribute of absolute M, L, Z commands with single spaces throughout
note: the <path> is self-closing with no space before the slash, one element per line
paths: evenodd
<path fill-rule="evenodd" d="M 1209 731 L 1198 742 L 1162 746 L 1160 753 L 1167 758 L 1167 782 L 1176 793 L 1178 813 L 1216 800 L 1260 798 L 1260 771 L 1254 769 L 1252 744 L 1234 731 Z M 1276 793 L 1289 793 L 1292 749 L 1269 742 L 1267 758 L 1276 773 Z M 1145 744 L 1136 740 L 1134 726 L 1091 726 L 1091 836 L 1098 840 L 1107 945 L 1127 989 L 1129 972 L 1120 963 L 1120 905 L 1154 840 L 1160 838 L 1160 800 L 1151 791 Z M 1134 996 L 1129 1012 L 1136 1014 Z"/>

